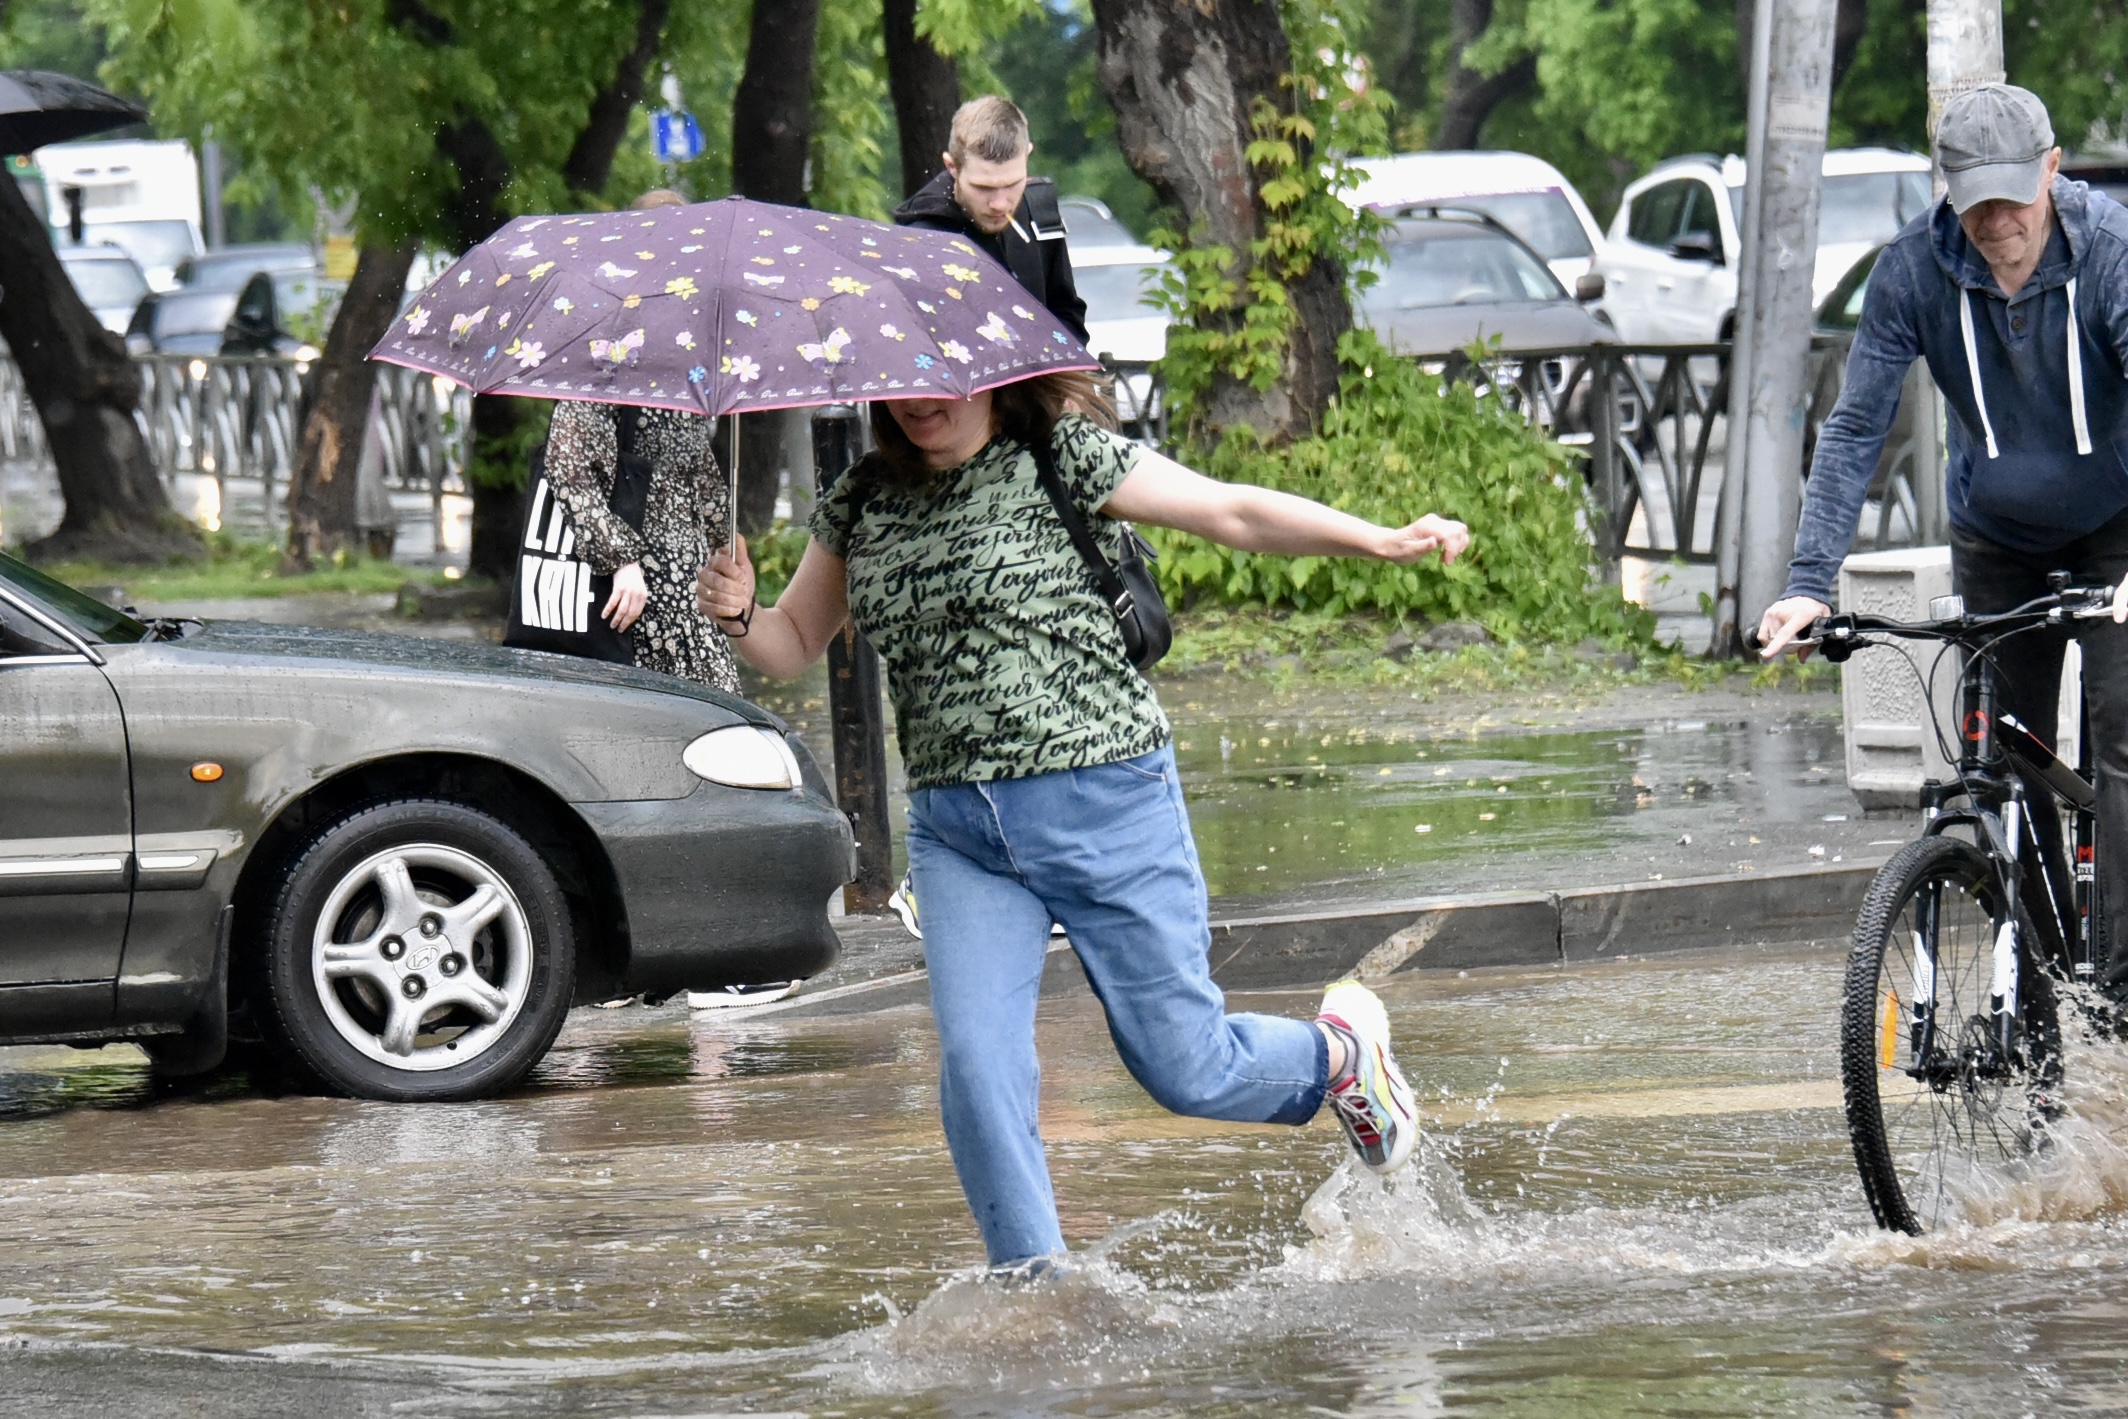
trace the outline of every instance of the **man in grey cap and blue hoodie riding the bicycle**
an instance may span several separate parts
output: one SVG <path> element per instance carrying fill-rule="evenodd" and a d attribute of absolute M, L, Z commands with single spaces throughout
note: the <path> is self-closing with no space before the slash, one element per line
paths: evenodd
<path fill-rule="evenodd" d="M 1951 587 L 1966 611 L 2128 581 L 2128 208 L 2060 177 L 2047 108 L 1992 83 L 1943 108 L 1947 194 L 1877 257 L 1847 385 L 1826 419 L 1788 589 L 1760 621 L 1779 655 L 1832 613 L 1871 474 L 1915 360 L 1949 417 Z M 2088 621 L 2083 683 L 2098 766 L 2098 900 L 2128 904 L 2128 598 Z M 2034 630 L 1990 655 L 2009 708 L 2054 742 L 2064 634 Z M 1807 653 L 1807 651 L 1805 651 Z M 2128 1002 L 2128 932 L 2107 994 Z"/>

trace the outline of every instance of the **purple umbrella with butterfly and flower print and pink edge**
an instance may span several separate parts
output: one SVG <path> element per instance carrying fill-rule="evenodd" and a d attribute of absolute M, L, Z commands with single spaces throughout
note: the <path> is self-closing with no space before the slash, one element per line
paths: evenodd
<path fill-rule="evenodd" d="M 479 394 L 702 415 L 966 398 L 1098 368 L 960 236 L 745 198 L 519 217 L 421 291 L 370 357 Z"/>

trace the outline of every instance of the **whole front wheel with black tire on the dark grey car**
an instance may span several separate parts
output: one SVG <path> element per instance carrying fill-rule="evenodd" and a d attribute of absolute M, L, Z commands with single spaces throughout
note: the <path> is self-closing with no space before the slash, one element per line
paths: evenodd
<path fill-rule="evenodd" d="M 326 823 L 294 853 L 253 968 L 266 1040 L 328 1087 L 472 1100 L 553 1045 L 575 938 L 553 870 L 513 828 L 398 800 Z"/>

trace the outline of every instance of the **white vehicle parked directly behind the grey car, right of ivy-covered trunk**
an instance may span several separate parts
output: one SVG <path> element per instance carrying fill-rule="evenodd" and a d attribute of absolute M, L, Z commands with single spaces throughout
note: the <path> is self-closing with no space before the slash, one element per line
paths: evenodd
<path fill-rule="evenodd" d="M 1396 153 L 1358 157 L 1366 179 L 1345 194 L 1356 208 L 1462 206 L 1528 243 L 1568 291 L 1602 249 L 1602 228 L 1575 185 L 1528 153 Z"/>

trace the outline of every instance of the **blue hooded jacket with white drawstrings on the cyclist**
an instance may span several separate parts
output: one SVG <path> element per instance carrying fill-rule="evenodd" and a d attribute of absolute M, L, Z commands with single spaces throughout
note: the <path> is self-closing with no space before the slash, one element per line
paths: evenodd
<path fill-rule="evenodd" d="M 1951 525 L 2056 551 L 2128 508 L 2128 208 L 2054 179 L 2039 270 L 2002 298 L 1949 202 L 1877 257 L 1847 385 L 1817 438 L 1785 596 L 1832 602 L 1915 357 L 1949 411 Z"/>

